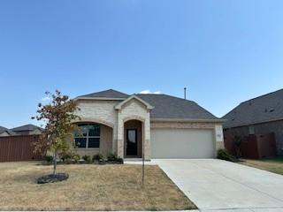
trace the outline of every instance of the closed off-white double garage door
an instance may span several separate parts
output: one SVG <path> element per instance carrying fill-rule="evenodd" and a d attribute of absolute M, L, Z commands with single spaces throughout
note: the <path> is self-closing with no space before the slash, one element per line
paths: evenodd
<path fill-rule="evenodd" d="M 152 158 L 212 158 L 215 155 L 212 130 L 152 129 Z"/>

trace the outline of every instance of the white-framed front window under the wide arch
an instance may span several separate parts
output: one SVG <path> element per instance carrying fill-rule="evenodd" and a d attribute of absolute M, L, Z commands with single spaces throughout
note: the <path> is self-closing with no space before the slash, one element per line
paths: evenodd
<path fill-rule="evenodd" d="M 100 125 L 79 124 L 74 141 L 77 148 L 99 148 Z"/>

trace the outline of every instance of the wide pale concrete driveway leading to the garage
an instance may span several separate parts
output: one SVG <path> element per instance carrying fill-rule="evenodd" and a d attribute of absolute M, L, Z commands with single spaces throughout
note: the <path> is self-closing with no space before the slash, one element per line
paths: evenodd
<path fill-rule="evenodd" d="M 283 211 L 281 175 L 217 159 L 153 162 L 201 211 Z"/>

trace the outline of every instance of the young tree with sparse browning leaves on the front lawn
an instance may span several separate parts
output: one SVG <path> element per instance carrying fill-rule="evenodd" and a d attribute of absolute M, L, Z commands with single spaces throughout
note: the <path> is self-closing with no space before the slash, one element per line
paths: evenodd
<path fill-rule="evenodd" d="M 53 175 L 56 174 L 57 155 L 69 150 L 70 144 L 68 138 L 72 136 L 75 125 L 73 121 L 80 119 L 73 112 L 80 110 L 75 101 L 67 95 L 61 95 L 56 90 L 55 94 L 46 92 L 51 97 L 50 103 L 38 104 L 37 116 L 38 121 L 45 122 L 40 139 L 34 142 L 34 151 L 44 153 L 49 150 L 53 154 Z"/>

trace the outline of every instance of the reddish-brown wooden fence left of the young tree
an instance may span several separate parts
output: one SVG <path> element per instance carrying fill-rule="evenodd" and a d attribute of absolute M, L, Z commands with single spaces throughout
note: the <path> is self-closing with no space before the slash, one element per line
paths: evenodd
<path fill-rule="evenodd" d="M 41 154 L 34 154 L 32 143 L 39 135 L 17 135 L 0 137 L 0 162 L 41 160 Z"/>

